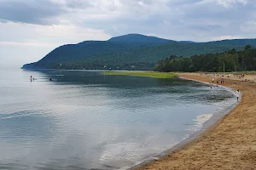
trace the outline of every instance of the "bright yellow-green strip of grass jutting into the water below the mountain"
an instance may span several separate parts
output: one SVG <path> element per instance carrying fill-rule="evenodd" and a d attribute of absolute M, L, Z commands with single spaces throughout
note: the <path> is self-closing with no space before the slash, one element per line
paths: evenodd
<path fill-rule="evenodd" d="M 103 71 L 102 74 L 103 75 L 116 75 L 116 76 L 153 77 L 153 78 L 177 77 L 177 75 L 174 73 L 156 72 L 156 71 Z"/>

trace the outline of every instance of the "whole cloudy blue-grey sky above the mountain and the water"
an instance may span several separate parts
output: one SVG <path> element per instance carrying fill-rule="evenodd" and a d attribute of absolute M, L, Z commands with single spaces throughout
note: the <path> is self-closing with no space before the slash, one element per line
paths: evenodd
<path fill-rule="evenodd" d="M 0 0 L 0 67 L 129 33 L 195 42 L 256 38 L 256 0 Z"/>

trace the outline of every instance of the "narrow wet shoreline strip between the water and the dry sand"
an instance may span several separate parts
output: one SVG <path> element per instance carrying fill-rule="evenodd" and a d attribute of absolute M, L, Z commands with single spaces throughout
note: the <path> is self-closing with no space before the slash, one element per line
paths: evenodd
<path fill-rule="evenodd" d="M 186 78 L 186 77 L 179 77 L 179 78 L 184 79 L 184 80 L 194 81 L 194 82 L 201 82 L 201 83 L 207 84 L 207 85 L 210 84 L 209 82 L 202 82 L 202 81 L 198 81 L 198 80 L 190 79 L 190 78 Z M 218 86 L 221 87 L 221 88 L 226 88 L 227 90 L 229 90 L 233 94 L 235 94 L 234 88 L 229 88 L 229 87 L 225 87 L 225 86 L 222 86 L 222 85 L 218 85 Z M 154 161 L 158 161 L 160 158 L 166 156 L 167 154 L 175 153 L 178 150 L 182 150 L 187 145 L 193 144 L 193 142 L 195 142 L 194 141 L 195 139 L 199 138 L 204 133 L 207 133 L 207 131 L 212 129 L 213 127 L 217 127 L 218 124 L 223 119 L 223 117 L 225 115 L 229 114 L 230 111 L 232 111 L 234 108 L 236 108 L 236 106 L 239 105 L 239 104 L 240 104 L 240 102 L 232 103 L 230 105 L 227 105 L 226 107 L 221 109 L 221 111 L 218 111 L 217 114 L 212 114 L 212 116 L 206 122 L 204 122 L 202 124 L 202 127 L 198 131 L 195 131 L 194 133 L 189 134 L 188 138 L 183 139 L 179 143 L 173 145 L 172 148 L 170 148 L 170 149 L 164 150 L 164 151 L 160 152 L 159 154 L 156 154 L 154 156 L 150 156 L 150 157 L 148 157 L 148 159 L 144 159 L 143 161 L 138 162 L 136 165 L 134 165 L 132 167 L 129 167 L 128 170 L 133 170 L 133 169 L 137 169 L 139 167 L 143 167 L 145 165 L 148 165 L 149 163 L 152 163 Z"/>

